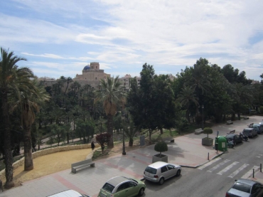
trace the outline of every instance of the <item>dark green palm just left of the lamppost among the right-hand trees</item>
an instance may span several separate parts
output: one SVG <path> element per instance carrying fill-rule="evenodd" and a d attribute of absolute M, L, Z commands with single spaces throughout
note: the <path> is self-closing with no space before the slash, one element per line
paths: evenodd
<path fill-rule="evenodd" d="M 186 119 L 188 119 L 188 122 L 190 122 L 190 103 L 194 103 L 196 106 L 198 106 L 198 98 L 195 95 L 195 90 L 192 87 L 184 86 L 181 92 L 178 94 L 177 101 L 180 102 L 183 107 L 185 107 Z"/>

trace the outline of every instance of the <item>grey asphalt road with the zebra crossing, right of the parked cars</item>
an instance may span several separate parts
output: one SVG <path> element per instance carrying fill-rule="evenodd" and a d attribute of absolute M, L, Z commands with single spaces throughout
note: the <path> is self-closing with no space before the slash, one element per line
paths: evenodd
<path fill-rule="evenodd" d="M 262 138 L 263 134 L 237 144 L 198 169 L 183 168 L 181 176 L 162 186 L 146 181 L 145 196 L 225 196 L 235 179 L 246 179 L 252 175 L 252 169 L 259 170 L 263 161 Z"/>

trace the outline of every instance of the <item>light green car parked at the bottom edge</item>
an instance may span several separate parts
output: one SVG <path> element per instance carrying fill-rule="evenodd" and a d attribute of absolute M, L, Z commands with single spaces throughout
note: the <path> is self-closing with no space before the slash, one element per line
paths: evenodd
<path fill-rule="evenodd" d="M 137 179 L 129 179 L 124 176 L 116 176 L 109 179 L 100 189 L 100 197 L 127 197 L 127 196 L 142 196 L 146 185 L 144 182 Z M 98 196 L 98 197 L 99 197 Z"/>

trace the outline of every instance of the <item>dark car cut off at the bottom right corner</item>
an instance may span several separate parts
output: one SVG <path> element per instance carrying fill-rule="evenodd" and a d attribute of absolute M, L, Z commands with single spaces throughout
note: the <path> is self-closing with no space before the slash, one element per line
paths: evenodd
<path fill-rule="evenodd" d="M 225 197 L 241 196 L 241 197 L 255 197 L 262 196 L 263 185 L 257 181 L 249 179 L 235 180 L 234 185 L 227 191 Z"/>

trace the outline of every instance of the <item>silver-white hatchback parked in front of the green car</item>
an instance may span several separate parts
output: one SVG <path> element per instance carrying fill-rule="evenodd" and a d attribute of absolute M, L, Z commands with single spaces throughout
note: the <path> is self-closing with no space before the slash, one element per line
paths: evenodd
<path fill-rule="evenodd" d="M 144 170 L 144 179 L 162 185 L 166 179 L 173 176 L 180 176 L 181 170 L 181 166 L 177 164 L 168 164 L 163 161 L 156 161 L 146 167 Z"/>

